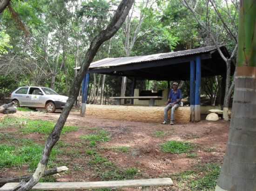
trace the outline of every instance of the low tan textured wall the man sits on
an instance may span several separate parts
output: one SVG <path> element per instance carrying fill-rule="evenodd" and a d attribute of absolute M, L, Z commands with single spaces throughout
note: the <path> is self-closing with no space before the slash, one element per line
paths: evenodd
<path fill-rule="evenodd" d="M 163 108 L 164 107 L 87 104 L 86 116 L 95 116 L 103 119 L 158 123 L 163 121 Z M 180 107 L 176 109 L 175 121 L 184 123 L 189 122 L 190 107 Z"/>

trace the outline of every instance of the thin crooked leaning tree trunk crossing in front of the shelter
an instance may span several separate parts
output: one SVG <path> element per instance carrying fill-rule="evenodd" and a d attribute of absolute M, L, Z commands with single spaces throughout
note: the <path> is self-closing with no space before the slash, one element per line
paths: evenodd
<path fill-rule="evenodd" d="M 90 63 L 93 61 L 94 56 L 97 53 L 100 46 L 102 45 L 102 43 L 104 43 L 109 38 L 113 37 L 114 34 L 119 30 L 125 18 L 127 17 L 133 3 L 134 0 L 122 0 L 107 28 L 102 30 L 91 42 L 90 47 L 86 53 L 85 59 L 81 64 L 81 69 L 79 70 L 77 76 L 74 78 L 73 84 L 70 88 L 67 106 L 62 110 L 62 113 L 52 133 L 49 135 L 47 139 L 42 159 L 40 160 L 33 174 L 33 177 L 26 184 L 21 182 L 18 191 L 30 190 L 34 185 L 38 183 L 39 179 L 42 177 L 43 172 L 45 171 L 45 168 L 47 166 L 52 148 L 60 139 L 61 130 L 67 120 L 67 116 L 69 115 L 70 110 L 74 105 L 74 101 L 79 93 L 81 82 L 88 70 Z"/>

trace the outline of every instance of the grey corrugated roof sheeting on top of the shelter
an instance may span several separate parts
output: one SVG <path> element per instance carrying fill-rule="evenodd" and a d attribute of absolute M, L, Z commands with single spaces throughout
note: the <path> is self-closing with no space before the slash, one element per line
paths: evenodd
<path fill-rule="evenodd" d="M 147 56 L 104 58 L 102 60 L 98 60 L 96 62 L 91 63 L 89 69 L 108 68 L 108 67 L 114 67 L 114 66 L 162 60 L 162 59 L 167 59 L 172 57 L 183 57 L 183 56 L 210 52 L 214 50 L 216 50 L 216 46 L 207 46 L 207 47 L 201 47 L 201 48 L 190 49 L 185 51 L 159 53 L 159 54 L 152 54 Z M 80 67 L 76 69 L 80 69 Z"/>

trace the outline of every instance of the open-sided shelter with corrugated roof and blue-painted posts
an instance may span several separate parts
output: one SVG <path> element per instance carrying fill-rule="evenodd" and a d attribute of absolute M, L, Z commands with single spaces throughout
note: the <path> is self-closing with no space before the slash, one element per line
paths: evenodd
<path fill-rule="evenodd" d="M 224 56 L 229 56 L 225 46 L 219 48 Z M 159 81 L 190 80 L 191 120 L 200 121 L 201 77 L 226 76 L 226 70 L 226 63 L 215 46 L 147 56 L 105 58 L 90 64 L 82 84 L 81 112 L 85 114 L 89 74 L 100 73 Z M 233 65 L 231 73 L 234 73 Z"/>

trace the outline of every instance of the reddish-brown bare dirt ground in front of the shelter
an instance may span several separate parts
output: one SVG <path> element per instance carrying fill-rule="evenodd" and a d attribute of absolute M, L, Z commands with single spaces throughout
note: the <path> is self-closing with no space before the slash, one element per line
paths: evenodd
<path fill-rule="evenodd" d="M 12 116 L 29 119 L 41 119 L 46 121 L 57 121 L 60 113 L 48 114 L 44 112 L 21 112 L 18 111 Z M 0 115 L 0 118 L 3 115 Z M 111 134 L 111 140 L 98 144 L 97 152 L 101 156 L 109 159 L 120 168 L 135 167 L 139 169 L 140 175 L 136 178 L 172 178 L 176 173 L 193 170 L 197 164 L 217 163 L 221 164 L 225 153 L 228 139 L 229 122 L 226 121 L 200 121 L 196 123 L 183 123 L 161 125 L 156 123 L 113 121 L 94 117 L 82 118 L 79 112 L 71 112 L 67 125 L 77 126 L 79 129 L 61 135 L 61 141 L 70 145 L 67 146 L 67 153 L 62 153 L 57 163 L 68 166 L 70 172 L 57 177 L 57 181 L 100 181 L 93 166 L 88 166 L 89 156 L 85 153 L 85 147 L 81 143 L 80 136 L 91 134 L 95 129 L 104 129 Z M 0 128 L 0 133 L 16 134 L 15 136 L 29 138 L 44 144 L 45 135 L 34 133 L 19 135 L 15 133 L 15 128 Z M 155 136 L 156 132 L 164 132 L 163 136 Z M 193 153 L 195 158 L 189 158 L 187 154 L 163 153 L 160 144 L 168 140 L 179 140 L 195 143 L 196 149 Z M 81 144 L 80 144 L 81 143 Z M 0 140 L 1 144 L 1 140 Z M 130 151 L 118 153 L 111 147 L 128 146 Z M 76 150 L 76 156 L 68 154 L 69 151 Z M 79 170 L 77 170 L 79 167 Z M 76 170 L 74 170 L 76 169 Z M 0 177 L 12 177 L 28 174 L 27 166 L 20 169 L 5 168 L 0 172 Z M 172 187 L 155 188 L 158 191 L 182 191 L 178 183 L 174 180 Z M 132 190 L 132 189 L 128 189 Z M 184 189 L 186 190 L 186 189 Z"/>

